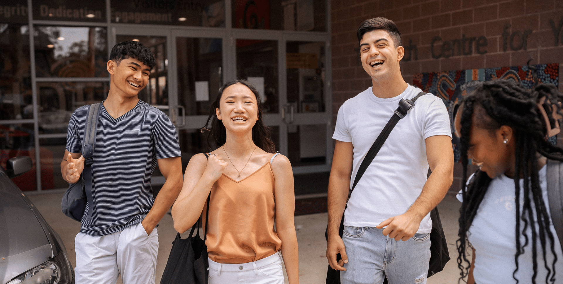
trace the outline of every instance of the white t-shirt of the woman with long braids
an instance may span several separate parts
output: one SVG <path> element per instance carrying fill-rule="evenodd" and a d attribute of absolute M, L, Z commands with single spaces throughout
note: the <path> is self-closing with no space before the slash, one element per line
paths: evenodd
<path fill-rule="evenodd" d="M 547 199 L 547 166 L 543 166 L 539 170 L 539 182 L 542 187 L 543 201 L 546 204 L 546 209 L 549 212 L 549 201 Z M 524 179 L 520 179 L 520 188 L 523 189 Z M 467 232 L 467 240 L 475 248 L 475 268 L 473 269 L 473 277 L 475 282 L 479 284 L 498 284 L 498 283 L 516 283 L 512 278 L 512 273 L 516 269 L 514 262 L 514 255 L 516 254 L 516 202 L 515 202 L 514 179 L 508 178 L 502 174 L 494 178 L 490 184 L 475 219 L 471 223 L 471 227 Z M 458 195 L 458 199 L 461 200 Z M 520 210 L 524 197 L 520 197 Z M 522 212 L 522 211 L 520 211 Z M 532 212 L 535 215 L 535 206 L 532 206 Z M 524 225 L 521 223 L 520 229 Z M 536 227 L 538 229 L 538 227 Z M 563 278 L 563 254 L 561 252 L 561 245 L 555 233 L 553 224 L 549 226 L 553 237 L 555 238 L 555 251 L 557 253 L 557 262 L 555 269 L 557 272 L 556 283 L 561 283 Z M 536 229 L 536 230 L 537 230 Z M 536 231 L 537 232 L 537 231 Z M 526 231 L 529 242 L 531 242 L 531 229 L 528 227 Z M 524 245 L 525 238 L 520 236 L 521 244 Z M 549 241 L 547 241 L 547 263 L 549 269 L 553 262 L 553 254 L 549 248 Z M 537 238 L 537 263 L 538 275 L 535 278 L 536 283 L 546 283 L 547 269 L 543 263 L 542 245 L 540 244 L 539 235 Z M 531 244 L 524 247 L 524 254 L 518 258 L 518 271 L 516 278 L 520 283 L 531 283 L 531 277 L 534 273 L 532 267 L 532 251 Z M 551 282 L 549 282 L 551 283 Z"/>

